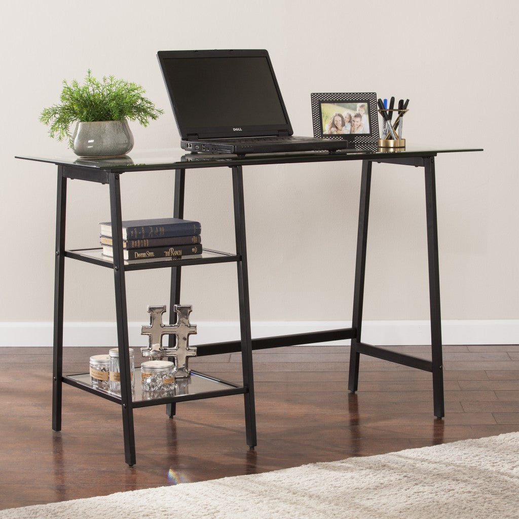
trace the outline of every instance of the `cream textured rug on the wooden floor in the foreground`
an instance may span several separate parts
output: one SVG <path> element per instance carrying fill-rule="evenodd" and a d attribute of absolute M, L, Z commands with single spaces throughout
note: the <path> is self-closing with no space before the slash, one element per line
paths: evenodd
<path fill-rule="evenodd" d="M 0 519 L 397 517 L 519 517 L 519 432 L 0 511 Z"/>

